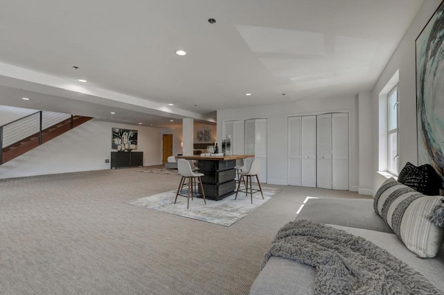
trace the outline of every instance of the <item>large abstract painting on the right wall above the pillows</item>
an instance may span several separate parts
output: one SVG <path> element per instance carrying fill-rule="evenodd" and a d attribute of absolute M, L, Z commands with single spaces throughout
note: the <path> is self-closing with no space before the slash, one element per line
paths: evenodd
<path fill-rule="evenodd" d="M 432 165 L 444 184 L 444 5 L 416 39 L 418 164 Z"/>

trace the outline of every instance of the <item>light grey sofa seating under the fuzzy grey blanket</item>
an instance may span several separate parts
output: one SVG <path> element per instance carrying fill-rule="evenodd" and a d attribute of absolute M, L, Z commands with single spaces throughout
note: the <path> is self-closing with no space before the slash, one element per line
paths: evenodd
<path fill-rule="evenodd" d="M 375 213 L 373 199 L 309 199 L 296 220 L 328 224 L 366 238 L 444 290 L 444 247 L 435 258 L 418 258 Z M 255 279 L 250 294 L 314 294 L 315 276 L 314 267 L 272 256 Z"/>

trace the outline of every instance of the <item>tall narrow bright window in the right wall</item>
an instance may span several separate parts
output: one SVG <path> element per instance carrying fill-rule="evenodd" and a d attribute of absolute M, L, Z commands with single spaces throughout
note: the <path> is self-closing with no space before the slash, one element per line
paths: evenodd
<path fill-rule="evenodd" d="M 398 175 L 398 84 L 387 95 L 387 171 Z"/>

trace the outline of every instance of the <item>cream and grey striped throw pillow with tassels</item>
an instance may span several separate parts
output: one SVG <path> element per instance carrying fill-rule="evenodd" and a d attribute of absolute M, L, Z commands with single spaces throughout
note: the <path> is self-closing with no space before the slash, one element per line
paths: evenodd
<path fill-rule="evenodd" d="M 444 238 L 444 197 L 427 196 L 387 179 L 373 203 L 407 249 L 421 258 L 436 256 Z"/>

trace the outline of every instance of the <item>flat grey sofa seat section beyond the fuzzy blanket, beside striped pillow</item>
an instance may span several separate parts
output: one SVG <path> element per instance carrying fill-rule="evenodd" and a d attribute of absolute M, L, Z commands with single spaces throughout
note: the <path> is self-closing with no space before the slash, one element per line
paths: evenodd
<path fill-rule="evenodd" d="M 393 233 L 372 206 L 373 199 L 314 198 L 307 201 L 296 219 Z"/>

